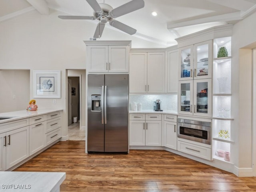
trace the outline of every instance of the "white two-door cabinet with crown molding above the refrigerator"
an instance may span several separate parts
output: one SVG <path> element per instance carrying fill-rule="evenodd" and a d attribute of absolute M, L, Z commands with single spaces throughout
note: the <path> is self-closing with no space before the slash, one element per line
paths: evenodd
<path fill-rule="evenodd" d="M 130 41 L 84 41 L 88 72 L 129 72 Z"/>

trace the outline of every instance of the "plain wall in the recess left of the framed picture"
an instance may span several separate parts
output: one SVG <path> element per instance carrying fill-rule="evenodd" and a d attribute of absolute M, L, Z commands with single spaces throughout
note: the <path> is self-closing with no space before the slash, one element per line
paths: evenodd
<path fill-rule="evenodd" d="M 0 70 L 0 113 L 26 110 L 29 101 L 30 70 Z"/>

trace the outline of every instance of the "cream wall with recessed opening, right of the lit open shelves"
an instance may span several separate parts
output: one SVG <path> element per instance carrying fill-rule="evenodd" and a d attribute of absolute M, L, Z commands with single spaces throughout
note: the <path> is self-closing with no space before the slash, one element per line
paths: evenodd
<path fill-rule="evenodd" d="M 232 129 L 236 134 L 233 145 L 236 150 L 233 152 L 235 166 L 242 170 L 242 174 L 252 168 L 251 48 L 252 43 L 256 42 L 255 19 L 256 13 L 235 24 L 232 36 Z"/>

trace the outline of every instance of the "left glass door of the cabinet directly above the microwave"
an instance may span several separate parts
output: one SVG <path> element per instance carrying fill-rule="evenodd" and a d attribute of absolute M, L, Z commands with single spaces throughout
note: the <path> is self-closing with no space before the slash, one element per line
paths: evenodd
<path fill-rule="evenodd" d="M 178 113 L 193 114 L 193 80 L 178 82 Z"/>

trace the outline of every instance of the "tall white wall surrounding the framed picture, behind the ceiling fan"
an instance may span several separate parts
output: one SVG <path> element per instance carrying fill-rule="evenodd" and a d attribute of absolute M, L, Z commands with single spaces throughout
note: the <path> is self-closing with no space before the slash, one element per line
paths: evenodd
<path fill-rule="evenodd" d="M 32 10 L 0 22 L 0 69 L 30 69 L 30 90 L 33 70 L 61 70 L 61 98 L 56 104 L 49 98 L 37 98 L 36 103 L 40 108 L 64 110 L 62 135 L 66 136 L 66 69 L 85 69 L 86 46 L 83 41 L 93 36 L 97 23 L 61 20 L 58 15 L 63 13 L 50 10 L 50 15 L 40 15 Z M 162 47 L 107 27 L 100 40 L 132 40 L 133 48 Z M 30 98 L 33 98 L 32 91 Z"/>

